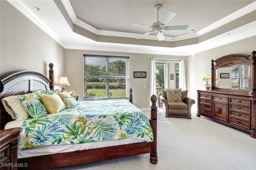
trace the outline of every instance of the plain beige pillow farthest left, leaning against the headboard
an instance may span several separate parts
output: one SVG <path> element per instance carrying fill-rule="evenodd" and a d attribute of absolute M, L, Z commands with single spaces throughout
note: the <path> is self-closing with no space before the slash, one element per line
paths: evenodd
<path fill-rule="evenodd" d="M 30 117 L 27 109 L 23 106 L 18 96 L 8 96 L 2 99 L 6 111 L 12 116 L 12 119 L 22 120 Z"/>

